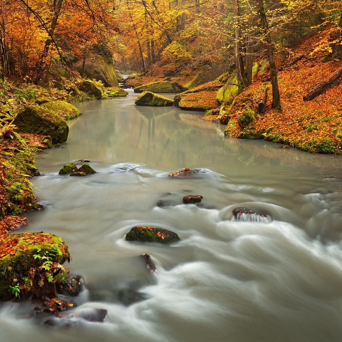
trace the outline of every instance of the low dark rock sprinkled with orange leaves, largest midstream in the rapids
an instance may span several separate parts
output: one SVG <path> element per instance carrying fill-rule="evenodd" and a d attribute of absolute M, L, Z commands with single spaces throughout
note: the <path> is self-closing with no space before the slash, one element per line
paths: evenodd
<path fill-rule="evenodd" d="M 172 243 L 179 241 L 180 238 L 174 232 L 164 228 L 156 227 L 133 227 L 127 234 L 128 241 Z"/>

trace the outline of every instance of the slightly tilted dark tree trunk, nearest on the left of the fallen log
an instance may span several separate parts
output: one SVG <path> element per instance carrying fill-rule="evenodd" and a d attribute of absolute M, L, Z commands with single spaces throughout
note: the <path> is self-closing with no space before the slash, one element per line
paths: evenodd
<path fill-rule="evenodd" d="M 263 0 L 259 0 L 259 13 L 260 13 L 262 28 L 265 31 L 268 64 L 270 65 L 270 71 L 271 71 L 272 96 L 273 96 L 272 108 L 280 108 L 280 94 L 279 94 L 279 87 L 278 87 L 277 66 L 273 57 L 271 35 L 268 30 L 268 23 L 267 23 Z"/>

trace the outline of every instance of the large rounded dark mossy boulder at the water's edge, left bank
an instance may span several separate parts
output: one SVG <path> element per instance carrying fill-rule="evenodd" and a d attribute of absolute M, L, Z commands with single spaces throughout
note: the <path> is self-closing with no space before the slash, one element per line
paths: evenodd
<path fill-rule="evenodd" d="M 65 120 L 52 110 L 34 105 L 21 110 L 13 120 L 19 132 L 49 135 L 52 144 L 63 143 L 69 133 Z"/>

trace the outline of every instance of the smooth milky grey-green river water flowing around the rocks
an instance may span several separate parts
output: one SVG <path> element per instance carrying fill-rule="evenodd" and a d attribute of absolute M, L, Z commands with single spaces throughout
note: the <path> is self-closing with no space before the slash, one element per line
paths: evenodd
<path fill-rule="evenodd" d="M 60 235 L 85 290 L 75 315 L 52 326 L 31 301 L 1 303 L 0 341 L 341 341 L 342 158 L 225 138 L 198 112 L 137 107 L 135 98 L 76 104 L 83 115 L 68 123 L 63 148 L 37 158 L 44 210 L 18 232 Z M 79 159 L 97 173 L 58 174 Z M 168 177 L 186 167 L 199 172 Z M 202 202 L 182 204 L 188 194 Z M 272 222 L 232 220 L 240 206 Z M 128 242 L 135 225 L 181 241 Z M 127 289 L 146 300 L 125 306 Z M 106 309 L 105 321 L 77 317 L 89 308 Z"/>

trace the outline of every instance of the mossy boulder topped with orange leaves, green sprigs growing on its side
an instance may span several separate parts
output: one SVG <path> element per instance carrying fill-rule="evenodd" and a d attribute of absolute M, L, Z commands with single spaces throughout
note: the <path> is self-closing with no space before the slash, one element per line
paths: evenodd
<path fill-rule="evenodd" d="M 65 274 L 62 265 L 69 260 L 68 247 L 57 235 L 0 235 L 0 298 L 22 294 L 43 297 L 46 289 Z"/>

